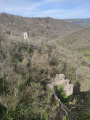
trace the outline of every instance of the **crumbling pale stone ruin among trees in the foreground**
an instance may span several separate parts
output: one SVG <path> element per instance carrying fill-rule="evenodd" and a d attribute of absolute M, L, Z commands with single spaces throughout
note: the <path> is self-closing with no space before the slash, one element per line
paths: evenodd
<path fill-rule="evenodd" d="M 51 89 L 53 89 L 54 86 L 63 85 L 64 92 L 66 93 L 67 96 L 70 96 L 73 94 L 73 85 L 69 83 L 70 80 L 65 79 L 64 74 L 56 74 L 55 79 L 48 85 Z"/>

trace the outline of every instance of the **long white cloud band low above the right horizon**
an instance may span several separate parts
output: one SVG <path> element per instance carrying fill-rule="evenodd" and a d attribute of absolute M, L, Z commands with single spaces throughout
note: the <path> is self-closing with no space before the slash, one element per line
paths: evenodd
<path fill-rule="evenodd" d="M 52 18 L 60 18 L 60 19 L 73 19 L 73 18 L 88 18 L 90 17 L 88 9 L 51 9 L 51 10 L 43 10 L 33 12 L 35 17 L 52 17 Z M 33 16 L 32 14 L 32 16 Z"/>

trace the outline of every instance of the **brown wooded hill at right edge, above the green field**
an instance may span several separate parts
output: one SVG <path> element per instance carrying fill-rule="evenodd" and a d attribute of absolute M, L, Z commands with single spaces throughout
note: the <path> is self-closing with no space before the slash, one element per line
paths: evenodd
<path fill-rule="evenodd" d="M 58 40 L 60 45 L 74 50 L 90 49 L 90 27 L 80 29 Z"/>

